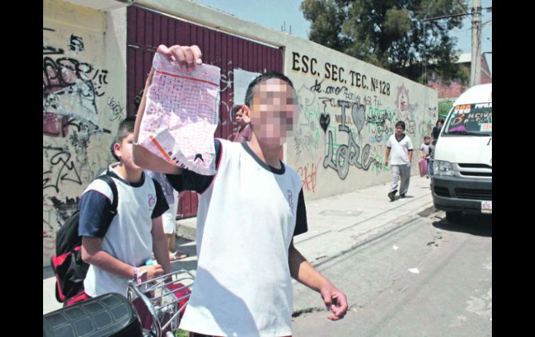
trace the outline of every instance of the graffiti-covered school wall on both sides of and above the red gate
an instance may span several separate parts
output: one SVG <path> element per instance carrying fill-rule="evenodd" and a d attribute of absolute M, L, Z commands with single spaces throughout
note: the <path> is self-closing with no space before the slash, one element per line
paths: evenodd
<path fill-rule="evenodd" d="M 110 143 L 128 106 L 131 1 L 97 1 L 110 5 L 97 9 L 92 1 L 72 2 L 43 1 L 43 265 L 85 186 L 113 162 Z M 415 149 L 436 122 L 435 90 L 356 58 L 188 0 L 135 5 L 283 50 L 301 106 L 284 158 L 302 177 L 308 200 L 389 181 L 384 152 L 395 122 L 406 122 Z M 248 74 L 233 73 L 224 86 L 238 95 L 247 85 L 238 78 Z"/>

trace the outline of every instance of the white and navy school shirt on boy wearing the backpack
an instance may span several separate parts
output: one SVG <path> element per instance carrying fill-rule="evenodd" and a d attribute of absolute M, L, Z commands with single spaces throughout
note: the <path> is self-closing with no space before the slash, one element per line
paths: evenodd
<path fill-rule="evenodd" d="M 158 181 L 145 172 L 138 183 L 122 179 L 113 167 L 108 174 L 117 186 L 117 215 L 106 221 L 113 202 L 113 192 L 105 181 L 94 180 L 80 199 L 79 235 L 102 238 L 102 250 L 134 267 L 145 265 L 152 253 L 152 219 L 161 216 L 169 206 Z M 120 293 L 126 297 L 129 279 L 110 274 L 90 265 L 83 281 L 91 297 Z"/>

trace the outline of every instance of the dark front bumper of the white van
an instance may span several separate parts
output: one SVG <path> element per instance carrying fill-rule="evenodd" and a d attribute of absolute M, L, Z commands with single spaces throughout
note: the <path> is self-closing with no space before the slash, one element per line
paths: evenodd
<path fill-rule="evenodd" d="M 434 176 L 431 184 L 435 208 L 441 211 L 482 213 L 482 202 L 492 202 L 492 180 Z"/>

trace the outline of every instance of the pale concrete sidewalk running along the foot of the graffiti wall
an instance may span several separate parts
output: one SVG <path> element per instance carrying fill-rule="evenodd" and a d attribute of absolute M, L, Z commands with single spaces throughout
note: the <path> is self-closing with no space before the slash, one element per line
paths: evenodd
<path fill-rule="evenodd" d="M 400 227 L 411 217 L 433 207 L 429 179 L 411 176 L 406 198 L 394 202 L 387 196 L 389 186 L 390 182 L 382 183 L 306 202 L 308 232 L 295 237 L 295 247 L 312 265 L 318 265 Z M 172 269 L 190 270 L 195 275 L 195 218 L 179 220 L 177 233 L 189 239 L 178 240 L 178 248 L 188 252 L 190 257 L 172 263 Z M 43 314 L 62 306 L 56 302 L 55 282 L 50 268 L 43 268 Z"/>

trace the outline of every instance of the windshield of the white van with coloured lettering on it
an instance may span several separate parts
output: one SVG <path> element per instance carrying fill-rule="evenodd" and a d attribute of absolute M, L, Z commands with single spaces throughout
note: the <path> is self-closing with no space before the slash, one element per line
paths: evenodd
<path fill-rule="evenodd" d="M 444 135 L 492 135 L 492 102 L 454 106 Z"/>

